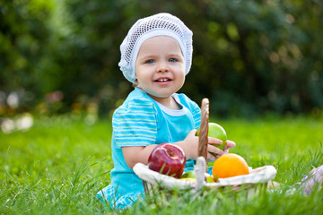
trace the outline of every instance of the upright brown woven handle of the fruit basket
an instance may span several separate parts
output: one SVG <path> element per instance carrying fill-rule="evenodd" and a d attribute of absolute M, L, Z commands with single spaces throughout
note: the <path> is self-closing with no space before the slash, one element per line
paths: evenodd
<path fill-rule="evenodd" d="M 208 122 L 209 122 L 209 100 L 202 99 L 201 105 L 201 125 L 198 136 L 198 156 L 205 158 L 207 162 L 207 134 L 208 134 Z"/>

